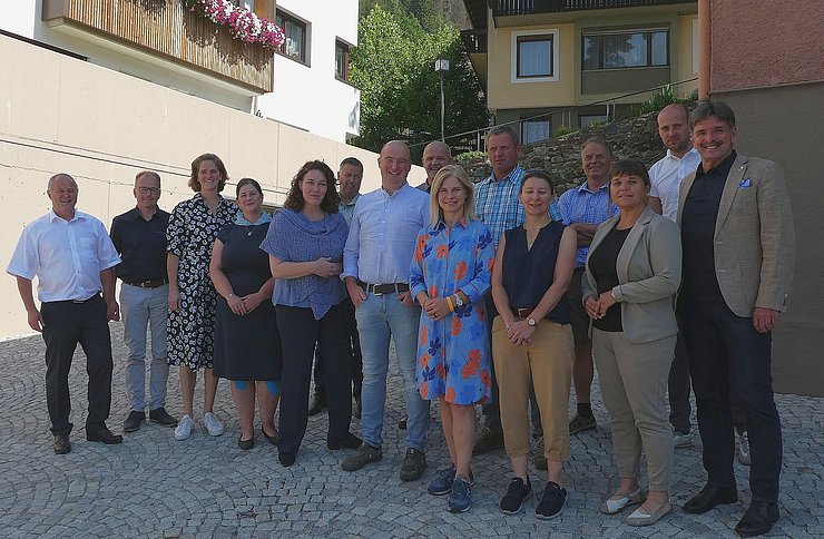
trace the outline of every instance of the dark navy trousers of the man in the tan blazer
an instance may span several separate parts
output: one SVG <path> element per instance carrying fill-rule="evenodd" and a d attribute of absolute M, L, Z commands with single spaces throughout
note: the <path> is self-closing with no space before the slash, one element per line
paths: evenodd
<path fill-rule="evenodd" d="M 735 486 L 735 437 L 730 401 L 749 433 L 753 500 L 775 503 L 782 465 L 782 432 L 773 398 L 772 333 L 758 333 L 752 317 L 733 313 L 723 297 L 683 304 L 689 373 L 704 441 L 707 483 Z"/>

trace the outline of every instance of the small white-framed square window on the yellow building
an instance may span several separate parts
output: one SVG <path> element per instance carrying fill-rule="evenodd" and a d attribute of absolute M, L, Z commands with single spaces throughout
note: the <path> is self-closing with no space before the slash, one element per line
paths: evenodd
<path fill-rule="evenodd" d="M 512 32 L 512 82 L 558 80 L 558 30 Z"/>

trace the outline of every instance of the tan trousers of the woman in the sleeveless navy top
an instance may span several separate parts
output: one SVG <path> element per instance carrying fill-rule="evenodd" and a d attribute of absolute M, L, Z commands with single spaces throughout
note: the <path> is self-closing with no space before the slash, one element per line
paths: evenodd
<path fill-rule="evenodd" d="M 507 337 L 503 320 L 492 323 L 492 357 L 500 392 L 503 444 L 509 457 L 529 454 L 529 390 L 534 383 L 547 460 L 569 458 L 567 403 L 572 380 L 572 327 L 538 321 L 530 346 Z"/>

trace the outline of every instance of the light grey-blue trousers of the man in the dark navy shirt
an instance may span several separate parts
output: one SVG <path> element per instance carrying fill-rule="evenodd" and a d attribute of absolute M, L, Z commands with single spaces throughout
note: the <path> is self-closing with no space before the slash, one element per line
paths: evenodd
<path fill-rule="evenodd" d="M 150 410 L 166 405 L 166 322 L 168 320 L 169 286 L 140 288 L 124 284 L 120 287 L 122 336 L 129 347 L 126 360 L 126 390 L 131 410 L 146 410 L 146 330 L 151 331 L 151 378 L 149 380 Z"/>

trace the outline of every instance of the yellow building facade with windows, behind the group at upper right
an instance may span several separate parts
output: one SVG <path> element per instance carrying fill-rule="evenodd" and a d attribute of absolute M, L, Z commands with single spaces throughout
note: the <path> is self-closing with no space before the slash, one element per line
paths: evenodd
<path fill-rule="evenodd" d="M 526 143 L 697 88 L 697 1 L 464 0 L 463 32 L 497 124 Z"/>

